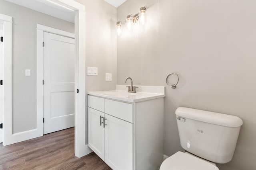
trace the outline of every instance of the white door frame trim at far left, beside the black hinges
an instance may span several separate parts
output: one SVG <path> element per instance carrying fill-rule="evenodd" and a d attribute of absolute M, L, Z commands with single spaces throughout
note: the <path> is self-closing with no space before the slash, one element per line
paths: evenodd
<path fill-rule="evenodd" d="M 3 145 L 12 138 L 12 17 L 0 14 L 3 24 Z"/>

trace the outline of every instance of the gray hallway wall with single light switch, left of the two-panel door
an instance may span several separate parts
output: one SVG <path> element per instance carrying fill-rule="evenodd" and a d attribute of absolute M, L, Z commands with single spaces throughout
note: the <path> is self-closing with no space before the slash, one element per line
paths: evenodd
<path fill-rule="evenodd" d="M 0 13 L 12 16 L 12 132 L 36 128 L 36 24 L 74 33 L 70 23 L 0 0 Z M 31 76 L 25 76 L 25 69 Z"/>

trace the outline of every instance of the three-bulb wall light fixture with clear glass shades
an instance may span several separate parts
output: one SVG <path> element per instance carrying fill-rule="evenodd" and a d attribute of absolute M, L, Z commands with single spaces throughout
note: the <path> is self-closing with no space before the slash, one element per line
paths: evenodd
<path fill-rule="evenodd" d="M 116 23 L 117 26 L 117 35 L 121 35 L 122 34 L 122 24 L 127 23 L 127 30 L 130 31 L 132 30 L 132 23 L 137 23 L 139 21 L 139 23 L 141 25 L 145 25 L 146 24 L 146 10 L 147 6 L 143 6 L 140 8 L 140 12 L 138 14 L 135 14 L 134 16 L 132 14 L 128 15 L 126 17 L 126 21 L 122 23 L 122 21 L 118 21 Z"/>

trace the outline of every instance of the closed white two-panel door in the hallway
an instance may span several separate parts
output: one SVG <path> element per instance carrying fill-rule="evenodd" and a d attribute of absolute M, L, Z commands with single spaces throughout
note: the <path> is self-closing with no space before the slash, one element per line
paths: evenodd
<path fill-rule="evenodd" d="M 74 39 L 44 32 L 44 134 L 74 127 Z"/>

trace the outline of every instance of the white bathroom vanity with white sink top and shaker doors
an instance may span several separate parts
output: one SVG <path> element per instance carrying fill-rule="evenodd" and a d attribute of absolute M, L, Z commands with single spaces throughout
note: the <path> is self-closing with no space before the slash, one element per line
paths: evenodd
<path fill-rule="evenodd" d="M 113 170 L 159 170 L 164 154 L 162 86 L 88 92 L 88 147 Z"/>

